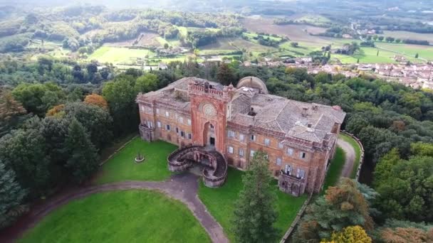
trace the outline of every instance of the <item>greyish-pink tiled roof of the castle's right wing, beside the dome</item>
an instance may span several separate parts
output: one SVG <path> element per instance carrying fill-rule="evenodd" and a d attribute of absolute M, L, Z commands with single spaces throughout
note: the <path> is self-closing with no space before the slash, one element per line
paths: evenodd
<path fill-rule="evenodd" d="M 255 115 L 248 114 L 251 108 Z M 342 124 L 344 118 L 345 112 L 337 106 L 298 102 L 241 88 L 236 90 L 231 100 L 229 119 L 235 124 L 278 131 L 286 136 L 320 143 L 329 139 L 334 125 Z"/>

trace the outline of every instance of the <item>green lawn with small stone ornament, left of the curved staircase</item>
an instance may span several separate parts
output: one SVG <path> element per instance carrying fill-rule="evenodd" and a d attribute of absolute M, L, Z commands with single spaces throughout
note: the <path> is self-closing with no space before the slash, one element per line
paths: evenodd
<path fill-rule="evenodd" d="M 137 137 L 102 166 L 95 183 L 113 183 L 123 180 L 165 180 L 171 175 L 167 169 L 167 156 L 176 148 L 177 146 L 165 141 L 149 143 Z M 135 163 L 134 158 L 139 151 L 145 155 L 146 160 L 142 163 Z"/>

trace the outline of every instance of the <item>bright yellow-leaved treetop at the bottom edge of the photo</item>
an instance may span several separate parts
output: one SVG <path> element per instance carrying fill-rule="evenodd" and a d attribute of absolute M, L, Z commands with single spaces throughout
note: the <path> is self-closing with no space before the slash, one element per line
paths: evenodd
<path fill-rule="evenodd" d="M 340 232 L 333 232 L 330 241 L 320 243 L 371 243 L 372 239 L 359 225 L 345 227 Z"/>

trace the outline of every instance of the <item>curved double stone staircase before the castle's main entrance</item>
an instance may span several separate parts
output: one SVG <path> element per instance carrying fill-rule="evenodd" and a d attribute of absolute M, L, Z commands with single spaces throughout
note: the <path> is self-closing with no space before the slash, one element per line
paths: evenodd
<path fill-rule="evenodd" d="M 204 185 L 216 188 L 224 184 L 227 176 L 227 161 L 218 151 L 209 151 L 204 146 L 186 146 L 178 148 L 167 157 L 169 171 L 186 171 L 198 163 L 194 160 L 194 153 L 200 153 L 214 161 L 212 166 L 205 167 L 202 171 Z"/>

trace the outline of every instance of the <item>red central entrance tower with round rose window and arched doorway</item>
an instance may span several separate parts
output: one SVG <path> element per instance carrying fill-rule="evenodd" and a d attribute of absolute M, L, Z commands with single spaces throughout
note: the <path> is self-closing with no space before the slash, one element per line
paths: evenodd
<path fill-rule="evenodd" d="M 188 83 L 194 145 L 211 146 L 224 154 L 227 104 L 232 90 L 232 85 L 224 87 L 200 81 Z"/>

